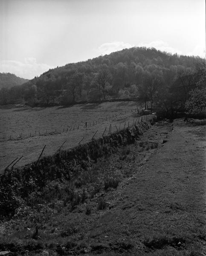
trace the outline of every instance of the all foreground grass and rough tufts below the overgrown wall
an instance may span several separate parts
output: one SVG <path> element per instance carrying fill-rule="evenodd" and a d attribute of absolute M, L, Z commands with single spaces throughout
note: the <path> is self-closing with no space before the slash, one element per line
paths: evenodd
<path fill-rule="evenodd" d="M 154 126 L 86 172 L 77 166 L 70 182 L 57 180 L 30 195 L 25 208 L 0 225 L 0 250 L 204 255 L 203 145 L 188 129 L 177 123 L 171 134 L 169 125 Z"/>

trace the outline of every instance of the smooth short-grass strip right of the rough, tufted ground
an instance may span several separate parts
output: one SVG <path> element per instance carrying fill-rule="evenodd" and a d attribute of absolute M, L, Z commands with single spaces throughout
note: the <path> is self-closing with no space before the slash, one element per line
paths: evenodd
<path fill-rule="evenodd" d="M 87 233 L 94 255 L 206 255 L 204 131 L 177 120 L 167 142 L 136 164 L 115 207 Z"/>

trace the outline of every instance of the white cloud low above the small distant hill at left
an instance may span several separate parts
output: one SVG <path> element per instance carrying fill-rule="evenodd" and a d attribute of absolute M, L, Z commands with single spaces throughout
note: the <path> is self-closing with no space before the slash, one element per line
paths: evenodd
<path fill-rule="evenodd" d="M 36 58 L 25 58 L 21 61 L 0 61 L 0 72 L 13 73 L 26 79 L 32 79 L 35 76 L 40 76 L 45 71 L 53 68 L 45 63 L 37 63 Z"/>

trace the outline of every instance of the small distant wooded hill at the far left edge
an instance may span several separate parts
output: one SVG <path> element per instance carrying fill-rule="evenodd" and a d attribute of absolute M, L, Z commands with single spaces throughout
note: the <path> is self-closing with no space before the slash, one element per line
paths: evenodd
<path fill-rule="evenodd" d="M 15 74 L 11 73 L 0 73 L 0 88 L 11 88 L 15 85 L 21 85 L 29 81 L 28 79 L 23 79 Z"/>

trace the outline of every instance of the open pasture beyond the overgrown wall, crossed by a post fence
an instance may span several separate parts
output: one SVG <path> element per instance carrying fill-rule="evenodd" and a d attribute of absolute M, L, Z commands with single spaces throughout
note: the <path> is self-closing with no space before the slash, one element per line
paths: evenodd
<path fill-rule="evenodd" d="M 69 108 L 2 108 L 0 120 L 0 170 L 16 157 L 22 157 L 17 166 L 72 148 L 81 141 L 101 137 L 105 128 L 111 131 L 132 125 L 137 118 L 137 102 L 104 102 L 102 104 L 74 105 Z M 85 123 L 87 122 L 87 127 Z M 129 123 L 128 123 L 129 122 Z"/>

